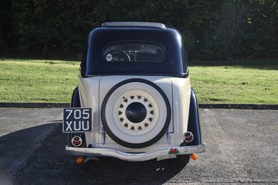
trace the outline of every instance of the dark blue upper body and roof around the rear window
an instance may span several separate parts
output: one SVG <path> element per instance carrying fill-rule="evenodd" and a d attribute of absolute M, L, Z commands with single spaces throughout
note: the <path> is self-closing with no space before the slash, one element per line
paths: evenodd
<path fill-rule="evenodd" d="M 107 63 L 103 52 L 114 42 L 150 42 L 165 48 L 163 63 Z M 187 77 L 186 54 L 179 31 L 160 23 L 109 22 L 90 32 L 81 62 L 82 77 L 161 75 Z"/>

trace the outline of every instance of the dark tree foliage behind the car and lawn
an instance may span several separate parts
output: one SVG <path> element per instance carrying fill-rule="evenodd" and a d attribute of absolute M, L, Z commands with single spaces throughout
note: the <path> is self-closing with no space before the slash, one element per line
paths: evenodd
<path fill-rule="evenodd" d="M 76 57 L 94 26 L 147 21 L 177 27 L 190 59 L 278 56 L 277 0 L 3 0 L 0 12 L 8 54 Z"/>

